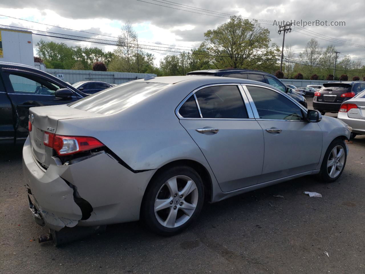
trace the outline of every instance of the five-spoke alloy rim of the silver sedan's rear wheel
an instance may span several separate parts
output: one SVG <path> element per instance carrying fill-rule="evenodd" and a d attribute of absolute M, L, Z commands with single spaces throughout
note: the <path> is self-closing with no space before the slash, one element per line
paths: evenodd
<path fill-rule="evenodd" d="M 176 228 L 187 222 L 195 212 L 198 189 L 189 176 L 168 179 L 158 191 L 154 202 L 157 221 L 166 228 Z"/>

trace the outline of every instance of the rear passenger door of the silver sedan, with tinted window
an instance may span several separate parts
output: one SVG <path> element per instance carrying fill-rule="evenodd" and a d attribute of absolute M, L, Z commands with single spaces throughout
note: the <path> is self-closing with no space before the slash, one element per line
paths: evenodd
<path fill-rule="evenodd" d="M 264 136 L 241 91 L 237 84 L 205 86 L 177 108 L 224 192 L 256 184 L 262 172 Z"/>

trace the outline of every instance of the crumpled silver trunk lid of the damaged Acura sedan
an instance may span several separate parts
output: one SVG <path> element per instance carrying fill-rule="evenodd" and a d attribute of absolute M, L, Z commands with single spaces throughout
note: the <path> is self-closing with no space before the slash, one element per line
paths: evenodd
<path fill-rule="evenodd" d="M 29 115 L 32 123 L 32 131 L 29 133 L 31 152 L 38 164 L 45 169 L 49 167 L 53 156 L 53 149 L 43 144 L 45 132 L 55 133 L 57 123 L 62 119 L 104 116 L 103 114 L 74 109 L 67 105 L 31 107 Z"/>

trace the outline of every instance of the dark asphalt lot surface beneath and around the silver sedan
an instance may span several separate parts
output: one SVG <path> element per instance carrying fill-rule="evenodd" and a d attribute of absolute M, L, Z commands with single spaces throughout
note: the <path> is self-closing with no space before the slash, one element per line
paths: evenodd
<path fill-rule="evenodd" d="M 134 222 L 58 248 L 37 242 L 47 230 L 28 209 L 22 146 L 3 146 L 0 272 L 365 273 L 365 136 L 348 145 L 335 183 L 306 176 L 207 204 L 193 227 L 173 237 Z"/>

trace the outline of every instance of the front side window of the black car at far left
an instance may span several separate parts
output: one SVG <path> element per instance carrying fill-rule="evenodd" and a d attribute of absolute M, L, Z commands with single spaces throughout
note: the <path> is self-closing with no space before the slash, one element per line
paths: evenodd
<path fill-rule="evenodd" d="M 28 95 L 54 95 L 58 85 L 26 73 L 11 73 L 9 80 L 15 93 Z"/>

